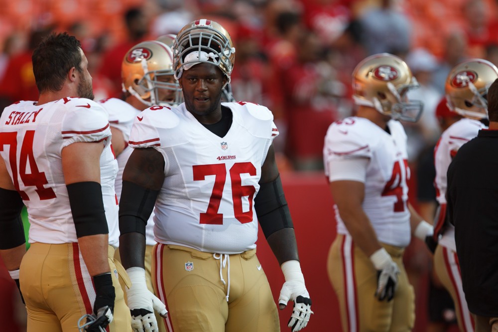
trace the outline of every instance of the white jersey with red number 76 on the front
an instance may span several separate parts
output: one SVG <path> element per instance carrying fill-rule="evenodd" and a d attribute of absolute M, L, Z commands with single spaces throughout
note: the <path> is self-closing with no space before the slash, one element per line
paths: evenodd
<path fill-rule="evenodd" d="M 255 248 L 254 197 L 261 166 L 278 130 L 273 115 L 250 103 L 222 103 L 233 113 L 225 137 L 185 109 L 154 106 L 136 117 L 129 144 L 164 157 L 165 180 L 155 205 L 155 239 L 206 252 Z"/>

